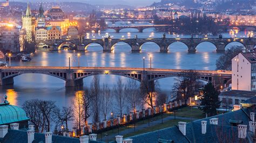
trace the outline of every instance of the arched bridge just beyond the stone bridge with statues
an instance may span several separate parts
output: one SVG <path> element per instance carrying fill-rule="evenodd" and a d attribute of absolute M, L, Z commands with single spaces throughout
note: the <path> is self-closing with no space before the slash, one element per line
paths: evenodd
<path fill-rule="evenodd" d="M 171 25 L 136 25 L 136 26 L 107 26 L 103 28 L 90 28 L 90 30 L 93 30 L 95 32 L 99 32 L 106 29 L 113 29 L 117 33 L 120 32 L 122 29 L 132 28 L 132 29 L 138 29 L 139 32 L 143 32 L 144 29 L 147 28 L 156 28 L 156 29 L 163 29 L 163 31 L 168 31 L 168 29 L 171 27 Z"/>

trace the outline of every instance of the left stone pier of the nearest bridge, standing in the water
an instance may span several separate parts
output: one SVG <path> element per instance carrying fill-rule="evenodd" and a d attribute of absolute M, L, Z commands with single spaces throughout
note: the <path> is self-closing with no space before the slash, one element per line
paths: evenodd
<path fill-rule="evenodd" d="M 83 86 L 83 79 L 75 80 L 75 76 L 72 70 L 68 70 L 66 72 L 66 87 L 75 87 L 75 86 Z"/>

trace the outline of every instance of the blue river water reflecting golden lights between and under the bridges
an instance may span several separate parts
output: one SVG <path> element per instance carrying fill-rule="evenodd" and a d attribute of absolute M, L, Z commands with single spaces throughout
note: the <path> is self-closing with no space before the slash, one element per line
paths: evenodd
<path fill-rule="evenodd" d="M 114 24 L 125 25 L 124 23 Z M 113 38 L 160 38 L 163 32 L 157 32 L 154 29 L 145 29 L 143 33 L 136 29 L 124 29 L 120 33 L 114 33 L 113 30 L 106 30 L 102 33 L 88 33 L 86 38 L 102 38 L 105 33 Z M 166 33 L 166 37 L 177 37 L 172 33 Z M 246 32 L 238 32 L 237 37 L 245 37 Z M 230 33 L 224 33 L 223 37 L 233 37 Z M 189 35 L 179 35 L 187 37 Z M 200 37 L 200 36 L 194 36 Z M 240 45 L 231 43 L 227 46 Z M 169 47 L 168 53 L 160 53 L 159 47 L 154 43 L 146 43 L 142 46 L 140 53 L 132 53 L 131 47 L 124 43 L 119 43 L 112 52 L 103 52 L 103 48 L 97 44 L 92 44 L 87 51 L 80 52 L 80 66 L 109 66 L 109 67 L 143 67 L 143 57 L 146 58 L 146 67 L 150 66 L 149 54 L 152 56 L 152 67 L 164 69 L 197 69 L 197 70 L 215 70 L 215 61 L 221 53 L 215 52 L 215 46 L 211 43 L 201 43 L 197 47 L 196 53 L 188 53 L 187 47 L 183 43 L 173 43 Z M 21 62 L 12 60 L 12 66 L 68 66 L 68 57 L 71 57 L 71 66 L 77 66 L 77 51 L 43 51 L 38 50 L 30 62 Z M 100 83 L 113 84 L 119 76 L 101 75 Z M 128 78 L 120 77 L 123 81 Z M 90 86 L 92 77 L 84 79 L 84 86 Z M 8 95 L 8 100 L 12 105 L 22 106 L 25 100 L 44 99 L 56 101 L 57 106 L 70 105 L 76 92 L 76 88 L 66 88 L 62 79 L 47 76 L 44 74 L 22 74 L 14 78 L 14 85 L 1 86 L 0 98 Z M 173 78 L 159 80 L 161 90 L 170 93 L 173 85 Z"/>

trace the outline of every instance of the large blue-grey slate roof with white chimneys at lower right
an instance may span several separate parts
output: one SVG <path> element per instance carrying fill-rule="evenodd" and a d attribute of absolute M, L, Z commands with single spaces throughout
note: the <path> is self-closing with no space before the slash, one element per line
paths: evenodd
<path fill-rule="evenodd" d="M 196 120 L 186 125 L 186 136 L 181 134 L 177 126 L 163 130 L 145 133 L 129 137 L 133 143 L 137 142 L 158 142 L 158 139 L 173 140 L 174 142 L 253 142 L 251 132 L 248 131 L 250 121 L 249 114 L 252 109 L 241 109 L 234 112 L 216 115 L 214 117 Z M 211 125 L 211 118 L 219 118 L 218 125 Z M 238 139 L 238 127 L 232 126 L 231 120 L 241 120 L 247 125 L 247 137 L 245 140 Z M 206 134 L 201 134 L 201 121 L 207 121 Z"/>

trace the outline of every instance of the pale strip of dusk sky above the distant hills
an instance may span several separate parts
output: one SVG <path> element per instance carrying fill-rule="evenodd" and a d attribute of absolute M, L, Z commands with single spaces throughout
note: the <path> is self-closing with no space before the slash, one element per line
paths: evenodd
<path fill-rule="evenodd" d="M 5 0 L 2 0 L 5 1 Z M 69 0 L 10 0 L 10 2 L 71 2 Z M 147 6 L 152 4 L 153 2 L 160 2 L 161 0 L 73 0 L 72 2 L 83 2 L 88 4 L 104 4 L 104 5 L 131 5 L 131 6 Z"/>

